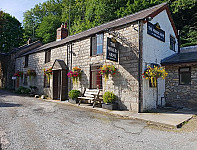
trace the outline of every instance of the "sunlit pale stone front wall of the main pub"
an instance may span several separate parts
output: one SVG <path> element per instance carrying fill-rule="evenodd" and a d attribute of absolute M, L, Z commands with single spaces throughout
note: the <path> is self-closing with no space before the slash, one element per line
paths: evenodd
<path fill-rule="evenodd" d="M 138 49 L 138 24 L 133 23 L 116 29 L 122 36 L 127 38 L 130 42 L 135 45 L 135 49 Z M 98 56 L 90 56 L 90 37 L 74 41 L 72 43 L 72 59 L 71 51 L 67 55 L 67 45 L 60 46 L 58 48 L 51 49 L 51 61 L 44 63 L 45 53 L 39 52 L 31 54 L 29 56 L 28 68 L 20 67 L 21 63 L 24 63 L 24 57 L 18 58 L 16 69 L 26 72 L 28 69 L 36 70 L 37 76 L 33 82 L 39 88 L 40 93 L 45 93 L 51 96 L 52 91 L 52 79 L 51 87 L 43 88 L 44 85 L 44 74 L 43 68 L 51 67 L 55 59 L 64 60 L 69 69 L 72 67 L 80 67 L 83 71 L 81 81 L 78 85 L 72 84 L 69 79 L 68 88 L 69 91 L 72 88 L 83 91 L 84 88 L 90 87 L 90 66 L 91 65 L 103 65 L 112 64 L 118 68 L 118 73 L 110 77 L 110 79 L 104 82 L 103 79 L 103 92 L 113 91 L 117 96 L 117 100 L 120 104 L 120 109 L 128 109 L 131 111 L 138 111 L 138 56 L 133 52 L 133 49 L 122 43 L 120 40 L 119 47 L 119 62 L 113 62 L 106 60 L 106 44 L 107 37 L 111 37 L 108 33 L 104 33 L 104 45 L 103 54 Z M 68 58 L 68 59 L 67 59 Z M 29 86 L 28 85 L 28 86 Z"/>

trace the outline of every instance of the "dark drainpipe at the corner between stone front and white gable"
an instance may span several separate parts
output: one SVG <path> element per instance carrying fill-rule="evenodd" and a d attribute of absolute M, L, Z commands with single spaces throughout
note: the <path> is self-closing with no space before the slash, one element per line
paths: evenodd
<path fill-rule="evenodd" d="M 142 36 L 143 34 L 143 20 L 138 21 L 138 39 L 139 39 L 139 60 L 138 60 L 138 90 L 139 90 L 139 102 L 138 102 L 138 112 L 142 112 L 142 106 L 143 106 L 143 97 L 142 97 L 142 80 L 141 80 L 141 70 L 142 70 Z"/>

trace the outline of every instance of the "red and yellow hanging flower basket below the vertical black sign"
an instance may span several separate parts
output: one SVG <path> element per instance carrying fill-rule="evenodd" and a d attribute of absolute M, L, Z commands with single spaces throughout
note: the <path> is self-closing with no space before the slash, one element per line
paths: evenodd
<path fill-rule="evenodd" d="M 105 81 L 108 80 L 109 74 L 115 75 L 118 71 L 118 69 L 113 65 L 103 65 L 100 69 L 101 70 L 99 73 L 101 75 L 104 75 Z"/>

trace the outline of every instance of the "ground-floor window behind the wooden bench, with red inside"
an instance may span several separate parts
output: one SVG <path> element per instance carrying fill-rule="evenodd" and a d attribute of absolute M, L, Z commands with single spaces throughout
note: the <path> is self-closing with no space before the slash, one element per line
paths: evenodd
<path fill-rule="evenodd" d="M 91 89 L 102 89 L 102 75 L 100 75 L 101 66 L 90 67 L 90 88 Z"/>

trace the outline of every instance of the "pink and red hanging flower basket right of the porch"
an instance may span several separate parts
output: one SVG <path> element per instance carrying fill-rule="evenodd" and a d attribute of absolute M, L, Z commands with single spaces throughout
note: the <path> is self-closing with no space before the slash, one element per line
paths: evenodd
<path fill-rule="evenodd" d="M 72 71 L 69 71 L 67 74 L 68 77 L 72 78 L 73 83 L 77 83 L 81 77 L 81 69 L 78 67 L 74 67 Z"/>

